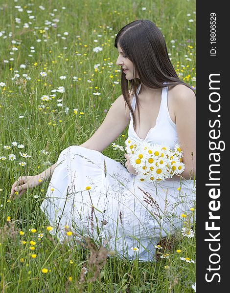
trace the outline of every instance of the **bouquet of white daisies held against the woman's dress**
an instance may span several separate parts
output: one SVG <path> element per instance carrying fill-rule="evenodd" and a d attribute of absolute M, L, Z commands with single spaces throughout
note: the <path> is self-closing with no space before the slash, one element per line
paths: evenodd
<path fill-rule="evenodd" d="M 179 144 L 172 150 L 169 146 L 145 142 L 140 144 L 128 137 L 125 145 L 125 150 L 130 156 L 130 164 L 138 173 L 138 180 L 142 182 L 164 181 L 184 171 L 183 151 Z"/>

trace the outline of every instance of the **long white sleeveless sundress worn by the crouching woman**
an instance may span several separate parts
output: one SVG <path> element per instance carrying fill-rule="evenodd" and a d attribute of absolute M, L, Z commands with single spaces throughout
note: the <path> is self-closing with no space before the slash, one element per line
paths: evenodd
<path fill-rule="evenodd" d="M 130 113 L 130 138 L 170 147 L 178 142 L 176 125 L 168 112 L 167 91 L 168 87 L 162 88 L 156 126 L 145 139 L 135 132 Z M 135 110 L 135 95 L 131 105 Z M 101 244 L 107 240 L 108 250 L 121 258 L 138 256 L 140 261 L 148 261 L 154 259 L 155 246 L 162 237 L 183 227 L 181 214 L 190 211 L 194 201 L 194 180 L 139 182 L 126 167 L 101 152 L 69 146 L 59 155 L 41 209 L 54 227 L 50 233 L 56 233 L 61 243 L 73 237 L 66 235 L 65 226 L 69 226 L 76 234 Z M 132 249 L 135 247 L 137 251 Z"/>

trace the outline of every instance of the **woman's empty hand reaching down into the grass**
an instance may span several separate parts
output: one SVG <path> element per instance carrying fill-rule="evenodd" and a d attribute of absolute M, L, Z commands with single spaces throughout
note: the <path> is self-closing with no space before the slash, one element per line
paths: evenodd
<path fill-rule="evenodd" d="M 42 181 L 39 182 L 39 179 L 40 175 L 19 177 L 12 185 L 10 199 L 16 198 L 15 191 L 18 191 L 17 197 L 21 197 L 28 188 L 34 188 L 41 184 Z"/>

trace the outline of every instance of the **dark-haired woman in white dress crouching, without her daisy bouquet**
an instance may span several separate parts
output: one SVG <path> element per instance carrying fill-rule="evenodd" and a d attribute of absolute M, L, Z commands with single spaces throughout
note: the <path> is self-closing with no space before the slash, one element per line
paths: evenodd
<path fill-rule="evenodd" d="M 51 177 L 41 209 L 54 227 L 50 232 L 61 242 L 68 227 L 100 243 L 108 241 L 109 249 L 121 257 L 150 260 L 161 237 L 181 228 L 180 215 L 193 206 L 195 94 L 179 80 L 153 22 L 127 24 L 116 35 L 115 47 L 122 94 L 101 126 L 82 145 L 64 149 L 57 163 L 41 174 L 19 178 L 11 197 L 14 190 L 20 197 Z M 104 156 L 101 152 L 128 124 L 129 137 L 138 143 L 173 148 L 179 142 L 184 151 L 182 177 L 138 182 L 127 154 L 126 168 Z"/>

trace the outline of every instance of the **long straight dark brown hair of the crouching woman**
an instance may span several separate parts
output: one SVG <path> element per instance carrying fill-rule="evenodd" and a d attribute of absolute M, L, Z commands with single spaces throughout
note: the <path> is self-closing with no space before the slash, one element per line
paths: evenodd
<path fill-rule="evenodd" d="M 169 59 L 164 37 L 157 26 L 149 20 L 136 20 L 128 23 L 120 29 L 115 38 L 117 43 L 128 59 L 134 64 L 134 75 L 132 80 L 127 80 L 121 68 L 121 90 L 134 121 L 136 119 L 130 103 L 130 88 L 137 97 L 138 121 L 139 121 L 139 100 L 137 89 L 139 84 L 144 84 L 149 88 L 162 88 L 165 86 L 175 86 L 185 84 L 181 81 L 173 68 Z M 138 78 L 134 76 L 138 73 Z M 163 84 L 167 82 L 167 84 Z M 190 87 L 189 87 L 190 88 Z"/>

